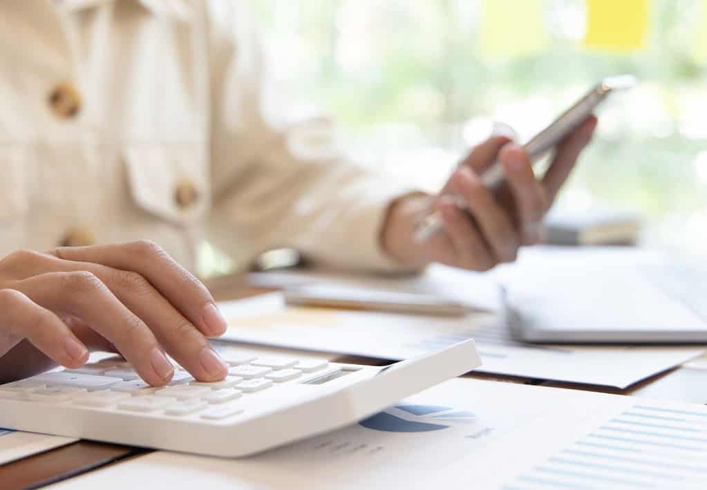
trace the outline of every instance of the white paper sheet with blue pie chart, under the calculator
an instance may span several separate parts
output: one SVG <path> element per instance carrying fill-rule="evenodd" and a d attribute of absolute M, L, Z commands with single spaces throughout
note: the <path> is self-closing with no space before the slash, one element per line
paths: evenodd
<path fill-rule="evenodd" d="M 457 378 L 245 460 L 151 453 L 56 488 L 705 488 L 707 407 Z"/>

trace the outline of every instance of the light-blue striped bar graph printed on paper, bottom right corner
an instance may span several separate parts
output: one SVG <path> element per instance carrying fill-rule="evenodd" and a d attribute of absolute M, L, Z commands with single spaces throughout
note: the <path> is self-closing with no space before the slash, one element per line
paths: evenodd
<path fill-rule="evenodd" d="M 707 488 L 707 410 L 636 404 L 506 489 Z"/>

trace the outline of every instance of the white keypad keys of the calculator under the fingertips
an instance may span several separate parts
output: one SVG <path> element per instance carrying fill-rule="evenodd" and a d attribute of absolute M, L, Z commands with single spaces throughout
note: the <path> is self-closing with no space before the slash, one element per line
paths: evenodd
<path fill-rule="evenodd" d="M 150 416 L 220 421 L 243 413 L 244 397 L 275 385 L 298 383 L 327 361 L 226 353 L 228 376 L 214 383 L 194 380 L 180 366 L 165 387 L 152 387 L 126 361 L 105 359 L 81 368 L 51 371 L 0 385 L 0 399 L 64 404 L 67 407 L 139 412 Z"/>

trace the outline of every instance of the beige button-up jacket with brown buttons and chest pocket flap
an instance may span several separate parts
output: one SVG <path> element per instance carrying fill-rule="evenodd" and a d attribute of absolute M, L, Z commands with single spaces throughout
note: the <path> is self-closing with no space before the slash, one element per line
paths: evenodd
<path fill-rule="evenodd" d="M 406 189 L 327 119 L 285 122 L 245 3 L 0 2 L 0 257 L 150 238 L 193 268 L 207 239 L 395 267 L 378 235 Z"/>

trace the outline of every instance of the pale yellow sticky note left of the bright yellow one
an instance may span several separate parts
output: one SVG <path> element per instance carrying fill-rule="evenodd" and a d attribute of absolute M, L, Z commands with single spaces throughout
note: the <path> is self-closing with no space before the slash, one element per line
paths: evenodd
<path fill-rule="evenodd" d="M 486 57 L 534 54 L 547 45 L 542 0 L 484 0 L 479 42 Z"/>

